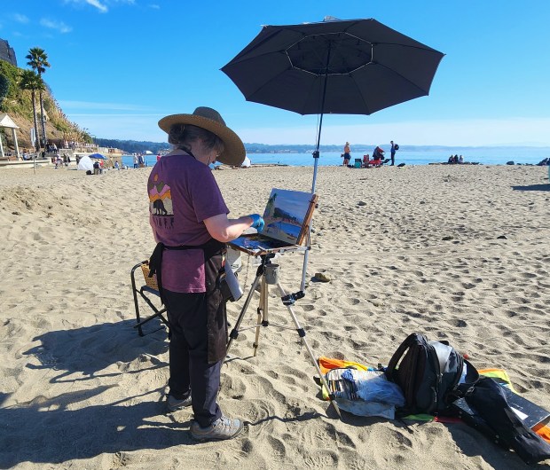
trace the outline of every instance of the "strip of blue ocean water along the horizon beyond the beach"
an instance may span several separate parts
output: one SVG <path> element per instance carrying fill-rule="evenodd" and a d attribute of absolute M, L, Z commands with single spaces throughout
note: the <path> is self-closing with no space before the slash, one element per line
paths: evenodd
<path fill-rule="evenodd" d="M 353 149 L 352 149 L 353 151 Z M 351 161 L 354 159 L 363 159 L 363 154 L 372 151 L 352 152 Z M 465 162 L 477 162 L 483 165 L 506 165 L 508 161 L 514 161 L 515 164 L 536 165 L 545 158 L 550 158 L 550 148 L 548 147 L 468 147 L 442 150 L 441 148 L 427 148 L 423 150 L 407 150 L 405 146 L 396 153 L 396 165 L 405 163 L 405 165 L 428 165 L 429 163 L 445 162 L 451 154 L 461 154 Z M 339 152 L 321 152 L 318 165 L 338 166 L 342 165 L 342 153 Z M 386 152 L 389 156 L 389 151 Z M 311 153 L 248 153 L 248 158 L 252 164 L 279 164 L 295 167 L 313 166 L 314 161 Z M 145 164 L 152 167 L 156 163 L 156 155 L 146 155 Z M 122 164 L 133 167 L 133 157 L 131 155 L 122 156 Z"/>

